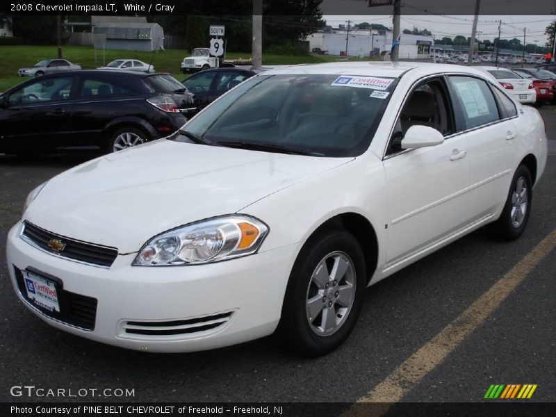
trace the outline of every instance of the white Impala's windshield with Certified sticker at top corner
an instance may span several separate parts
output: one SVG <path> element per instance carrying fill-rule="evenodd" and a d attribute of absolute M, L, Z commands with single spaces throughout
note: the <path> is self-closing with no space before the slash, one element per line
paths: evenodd
<path fill-rule="evenodd" d="M 183 126 L 213 145 L 311 156 L 365 152 L 395 88 L 373 76 L 261 75 Z"/>

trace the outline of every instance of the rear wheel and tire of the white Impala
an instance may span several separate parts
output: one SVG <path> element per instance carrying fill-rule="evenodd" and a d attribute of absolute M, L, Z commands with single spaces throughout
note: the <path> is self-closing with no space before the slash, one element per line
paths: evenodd
<path fill-rule="evenodd" d="M 528 167 L 519 165 L 509 186 L 502 214 L 494 224 L 498 237 L 504 240 L 514 240 L 523 234 L 529 220 L 531 202 L 531 174 Z"/>

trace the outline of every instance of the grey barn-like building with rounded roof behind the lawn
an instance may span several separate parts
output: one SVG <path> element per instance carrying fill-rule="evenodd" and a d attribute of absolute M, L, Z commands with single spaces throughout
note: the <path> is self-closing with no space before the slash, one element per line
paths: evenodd
<path fill-rule="evenodd" d="M 164 31 L 146 17 L 92 16 L 92 33 L 106 37 L 106 49 L 157 51 L 164 49 Z"/>

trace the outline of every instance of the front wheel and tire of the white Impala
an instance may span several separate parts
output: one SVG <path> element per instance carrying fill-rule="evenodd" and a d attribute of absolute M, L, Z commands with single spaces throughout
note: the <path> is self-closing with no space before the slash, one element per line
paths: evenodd
<path fill-rule="evenodd" d="M 334 265 L 345 270 L 334 276 Z M 306 356 L 332 352 L 352 332 L 365 287 L 365 258 L 354 236 L 343 229 L 314 236 L 293 265 L 276 333 L 279 341 Z"/>

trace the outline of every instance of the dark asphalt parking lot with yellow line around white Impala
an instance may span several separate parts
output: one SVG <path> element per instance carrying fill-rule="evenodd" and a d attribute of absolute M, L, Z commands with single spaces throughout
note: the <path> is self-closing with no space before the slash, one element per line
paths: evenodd
<path fill-rule="evenodd" d="M 491 384 L 537 384 L 528 401 L 556 402 L 556 106 L 541 114 L 550 155 L 525 234 L 506 243 L 481 229 L 368 288 L 352 336 L 317 359 L 284 352 L 272 338 L 146 354 L 44 324 L 13 293 L 6 235 L 35 186 L 95 155 L 0 155 L 0 402 L 480 402 Z M 507 297 L 484 301 L 498 281 Z M 466 316 L 470 306 L 482 320 Z M 11 387 L 24 385 L 99 391 L 12 395 Z M 133 389 L 134 396 L 104 389 Z"/>

